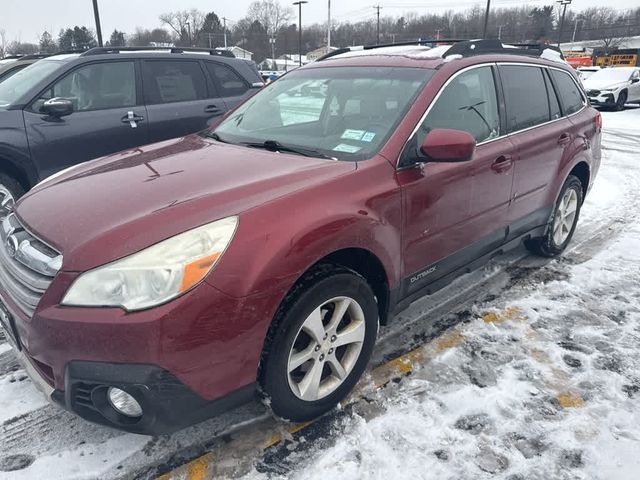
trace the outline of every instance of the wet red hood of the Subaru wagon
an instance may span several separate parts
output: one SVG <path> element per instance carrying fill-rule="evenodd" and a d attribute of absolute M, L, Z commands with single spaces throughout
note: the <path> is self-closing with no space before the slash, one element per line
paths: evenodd
<path fill-rule="evenodd" d="M 191 135 L 72 167 L 15 212 L 63 270 L 85 271 L 355 168 Z"/>

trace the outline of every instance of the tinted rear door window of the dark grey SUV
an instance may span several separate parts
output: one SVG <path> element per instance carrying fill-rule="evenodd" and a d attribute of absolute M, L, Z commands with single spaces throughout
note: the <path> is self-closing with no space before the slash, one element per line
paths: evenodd
<path fill-rule="evenodd" d="M 146 60 L 143 78 L 148 105 L 207 98 L 207 80 L 197 61 Z"/>

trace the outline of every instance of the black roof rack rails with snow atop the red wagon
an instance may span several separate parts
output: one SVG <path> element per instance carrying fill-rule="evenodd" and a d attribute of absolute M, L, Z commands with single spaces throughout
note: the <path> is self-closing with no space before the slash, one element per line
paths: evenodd
<path fill-rule="evenodd" d="M 489 53 L 500 53 L 506 55 L 530 55 L 539 57 L 544 50 L 550 49 L 555 51 L 564 59 L 562 51 L 554 46 L 546 43 L 515 43 L 503 44 L 500 40 L 461 40 L 461 39 L 420 39 L 413 42 L 385 43 L 380 45 L 365 45 L 360 47 L 345 47 L 329 52 L 318 58 L 318 62 L 326 60 L 336 55 L 347 52 L 374 50 L 376 48 L 386 47 L 402 47 L 402 46 L 438 46 L 451 44 L 451 48 L 447 50 L 446 56 L 461 55 L 463 57 L 471 57 L 473 55 L 484 55 Z"/>

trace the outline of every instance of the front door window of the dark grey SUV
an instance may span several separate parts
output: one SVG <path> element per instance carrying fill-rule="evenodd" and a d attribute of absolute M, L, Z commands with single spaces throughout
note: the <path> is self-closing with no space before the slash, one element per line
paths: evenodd
<path fill-rule="evenodd" d="M 136 75 L 133 62 L 105 62 L 85 65 L 68 73 L 36 100 L 33 109 L 55 97 L 73 102 L 77 112 L 131 107 L 136 104 Z"/>

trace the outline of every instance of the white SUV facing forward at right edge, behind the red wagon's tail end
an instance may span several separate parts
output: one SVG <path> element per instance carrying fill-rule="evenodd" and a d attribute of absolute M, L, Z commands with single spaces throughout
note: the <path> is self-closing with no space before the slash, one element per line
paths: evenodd
<path fill-rule="evenodd" d="M 640 68 L 611 67 L 595 72 L 583 82 L 591 104 L 624 110 L 626 103 L 640 102 Z"/>

